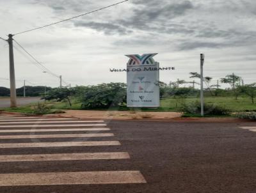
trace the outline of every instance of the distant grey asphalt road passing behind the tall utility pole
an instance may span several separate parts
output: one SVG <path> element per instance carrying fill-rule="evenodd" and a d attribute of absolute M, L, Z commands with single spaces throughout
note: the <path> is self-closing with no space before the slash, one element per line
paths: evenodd
<path fill-rule="evenodd" d="M 33 102 L 39 102 L 40 97 L 18 97 L 17 104 L 18 105 L 28 105 Z M 10 98 L 8 97 L 0 97 L 0 108 L 10 107 Z"/>

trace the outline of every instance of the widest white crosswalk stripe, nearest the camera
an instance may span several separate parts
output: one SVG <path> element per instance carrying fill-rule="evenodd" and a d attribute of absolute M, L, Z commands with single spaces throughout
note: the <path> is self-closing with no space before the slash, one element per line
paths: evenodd
<path fill-rule="evenodd" d="M 0 186 L 146 183 L 140 171 L 0 174 Z"/>

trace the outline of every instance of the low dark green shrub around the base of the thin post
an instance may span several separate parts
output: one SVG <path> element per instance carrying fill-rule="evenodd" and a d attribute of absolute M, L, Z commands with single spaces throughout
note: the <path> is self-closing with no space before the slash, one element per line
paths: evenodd
<path fill-rule="evenodd" d="M 200 114 L 201 104 L 200 102 L 191 102 L 189 104 L 182 104 L 180 110 L 186 114 Z M 225 107 L 221 107 L 214 104 L 204 104 L 205 115 L 230 115 L 232 111 Z"/>

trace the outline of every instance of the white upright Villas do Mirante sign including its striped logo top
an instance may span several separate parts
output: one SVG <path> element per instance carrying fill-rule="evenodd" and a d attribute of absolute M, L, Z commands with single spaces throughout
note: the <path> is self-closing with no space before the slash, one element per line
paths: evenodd
<path fill-rule="evenodd" d="M 127 107 L 159 107 L 159 63 L 156 54 L 128 55 Z"/>

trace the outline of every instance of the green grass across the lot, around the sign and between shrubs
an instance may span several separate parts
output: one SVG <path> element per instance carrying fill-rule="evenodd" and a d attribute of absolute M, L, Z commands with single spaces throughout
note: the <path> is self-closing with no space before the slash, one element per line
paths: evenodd
<path fill-rule="evenodd" d="M 106 109 L 88 109 L 93 111 L 130 111 L 131 115 L 134 115 L 134 119 L 138 118 L 136 112 L 180 112 L 180 108 L 184 102 L 186 104 L 191 104 L 195 101 L 200 100 L 198 97 L 191 98 L 164 98 L 161 100 L 161 107 L 159 108 L 129 108 L 129 107 L 110 107 Z M 83 110 L 81 107 L 81 102 L 72 99 L 72 106 L 70 107 L 67 102 L 46 102 L 47 105 L 51 105 L 51 112 L 54 113 L 58 109 L 70 109 L 70 110 Z M 230 109 L 232 112 L 244 112 L 244 111 L 256 111 L 256 104 L 252 104 L 250 98 L 246 96 L 240 96 L 237 100 L 234 96 L 207 96 L 205 97 L 205 104 L 218 105 L 220 107 L 225 107 Z M 24 105 L 17 108 L 3 108 L 3 111 L 9 112 L 22 112 L 26 114 L 33 113 L 33 106 Z M 111 113 L 111 112 L 110 112 Z M 200 117 L 200 114 L 184 114 L 184 117 Z M 205 117 L 230 117 L 230 116 L 205 116 Z M 232 117 L 232 116 L 231 116 Z"/>

